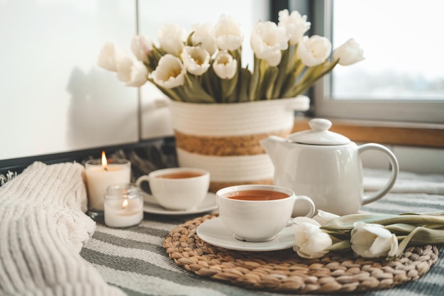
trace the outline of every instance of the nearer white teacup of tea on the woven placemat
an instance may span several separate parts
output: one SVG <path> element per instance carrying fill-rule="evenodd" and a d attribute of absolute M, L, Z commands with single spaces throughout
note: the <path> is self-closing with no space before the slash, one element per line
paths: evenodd
<path fill-rule="evenodd" d="M 282 198 L 272 200 L 233 199 L 239 192 L 261 190 L 277 192 Z M 240 194 L 241 195 L 241 194 Z M 240 197 L 242 198 L 242 197 Z M 276 238 L 284 227 L 291 225 L 292 212 L 298 204 L 309 205 L 306 216 L 313 216 L 315 205 L 306 196 L 296 196 L 292 190 L 275 185 L 238 185 L 216 192 L 216 203 L 223 224 L 241 241 L 261 242 Z"/>

